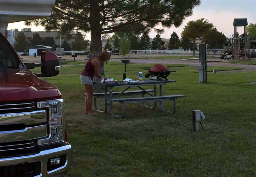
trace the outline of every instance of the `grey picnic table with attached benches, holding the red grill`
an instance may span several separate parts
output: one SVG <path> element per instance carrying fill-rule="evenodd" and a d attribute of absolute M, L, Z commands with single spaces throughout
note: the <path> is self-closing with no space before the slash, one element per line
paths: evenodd
<path fill-rule="evenodd" d="M 110 114 L 112 116 L 116 117 L 124 117 L 125 116 L 125 104 L 127 103 L 142 103 L 144 107 L 156 108 L 157 102 L 159 102 L 160 109 L 162 111 L 166 111 L 163 108 L 163 101 L 170 101 L 173 100 L 173 111 L 172 113 L 176 112 L 177 109 L 177 98 L 184 97 L 184 95 L 167 95 L 163 96 L 163 85 L 166 85 L 167 83 L 172 83 L 176 82 L 175 80 L 162 80 L 162 81 L 157 81 L 157 80 L 144 80 L 141 82 L 124 82 L 124 83 L 115 83 L 115 82 L 93 82 L 94 84 L 100 84 L 103 87 L 105 87 L 105 92 L 104 92 L 104 99 L 105 99 L 105 110 L 100 111 L 97 109 L 97 102 L 96 99 L 94 98 L 94 107 L 95 110 L 98 112 L 107 112 L 108 111 L 108 101 L 109 101 L 109 108 L 110 108 Z M 157 86 L 159 85 L 159 96 L 157 96 Z M 142 88 L 143 86 L 154 86 L 154 90 L 145 90 Z M 113 88 L 120 88 L 124 87 L 125 89 L 122 92 L 113 92 Z M 127 91 L 131 87 L 138 87 L 140 90 L 133 90 L 133 91 Z M 108 92 L 109 88 L 109 92 Z M 150 94 L 150 92 L 154 92 L 154 95 Z M 115 94 L 113 94 L 115 93 Z M 138 95 L 141 94 L 142 97 L 133 97 L 133 95 Z M 117 98 L 119 96 L 124 96 L 126 94 L 129 94 L 130 98 Z M 144 94 L 148 94 L 149 97 L 144 97 Z M 100 93 L 99 95 L 103 95 L 103 93 Z M 116 95 L 113 98 L 113 95 Z M 97 93 L 93 95 L 94 97 L 97 96 Z M 108 98 L 109 97 L 109 98 Z M 113 113 L 113 102 L 120 102 L 122 104 L 122 114 L 121 116 L 118 116 Z M 153 107 L 149 107 L 145 105 L 145 102 L 154 102 Z M 166 111 L 166 112 L 171 112 L 171 111 Z"/>

